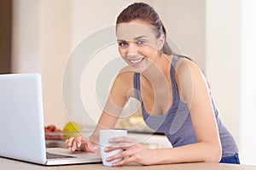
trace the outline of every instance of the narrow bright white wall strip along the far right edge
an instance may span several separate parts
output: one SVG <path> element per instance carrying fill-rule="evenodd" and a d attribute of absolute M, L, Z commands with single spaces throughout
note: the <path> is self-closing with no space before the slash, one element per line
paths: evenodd
<path fill-rule="evenodd" d="M 241 3 L 241 157 L 245 164 L 254 164 L 256 147 L 256 2 Z"/>

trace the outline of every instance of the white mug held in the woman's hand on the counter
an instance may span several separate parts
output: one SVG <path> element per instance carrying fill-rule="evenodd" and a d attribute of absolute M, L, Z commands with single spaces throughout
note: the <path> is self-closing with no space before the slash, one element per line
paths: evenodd
<path fill-rule="evenodd" d="M 114 162 L 117 161 L 122 161 L 123 158 L 119 158 L 113 161 L 106 161 L 106 159 L 109 156 L 116 155 L 123 151 L 122 149 L 119 150 L 113 150 L 110 152 L 105 152 L 105 148 L 112 145 L 108 141 L 109 139 L 112 138 L 117 138 L 117 137 L 122 137 L 122 136 L 127 136 L 127 130 L 113 130 L 113 129 L 108 129 L 108 130 L 100 130 L 100 146 L 101 146 L 101 156 L 102 156 L 102 163 L 105 166 L 112 166 Z"/>

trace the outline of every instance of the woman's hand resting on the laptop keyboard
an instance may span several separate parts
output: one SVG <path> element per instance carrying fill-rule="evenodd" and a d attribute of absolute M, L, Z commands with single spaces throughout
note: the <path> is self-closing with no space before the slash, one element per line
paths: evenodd
<path fill-rule="evenodd" d="M 89 138 L 79 134 L 76 138 L 71 137 L 65 141 L 66 148 L 70 148 L 72 152 L 87 151 L 87 152 L 99 152 L 99 146 L 96 143 L 90 141 Z"/>

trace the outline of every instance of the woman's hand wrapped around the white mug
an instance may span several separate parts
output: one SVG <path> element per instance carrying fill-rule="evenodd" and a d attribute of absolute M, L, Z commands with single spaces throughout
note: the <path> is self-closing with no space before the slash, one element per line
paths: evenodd
<path fill-rule="evenodd" d="M 122 166 L 131 162 L 137 162 L 142 165 L 154 164 L 156 154 L 152 153 L 155 150 L 150 150 L 139 144 L 135 139 L 129 139 L 127 137 L 113 138 L 109 140 L 109 143 L 113 145 L 108 146 L 105 151 L 123 149 L 124 151 L 114 156 L 109 156 L 107 161 L 113 161 L 119 158 L 125 158 L 122 161 L 113 163 L 113 166 Z"/>

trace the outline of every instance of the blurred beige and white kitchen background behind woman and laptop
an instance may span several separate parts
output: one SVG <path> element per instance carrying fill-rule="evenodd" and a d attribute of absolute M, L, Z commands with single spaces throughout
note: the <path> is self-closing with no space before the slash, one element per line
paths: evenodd
<path fill-rule="evenodd" d="M 106 44 L 93 54 L 93 59 L 84 56 L 90 62 L 84 65 L 76 86 L 72 84 L 72 73 L 68 77 L 64 74 L 71 62 L 68 59 L 87 37 L 113 28 L 120 11 L 134 2 L 151 4 L 174 46 L 205 72 L 219 115 L 239 144 L 241 163 L 256 165 L 254 0 L 1 0 L 1 73 L 41 73 L 45 124 L 61 128 L 76 121 L 91 130 L 116 71 L 125 64 L 119 60 L 116 44 Z M 109 71 L 112 75 L 107 75 L 106 80 L 97 79 L 104 76 L 101 71 L 106 72 L 107 68 L 113 68 Z M 73 86 L 79 88 L 86 113 L 73 102 L 78 96 L 66 100 L 63 97 L 63 77 L 71 78 L 67 93 L 73 94 Z M 131 99 L 129 104 L 118 127 L 150 131 L 143 125 L 137 101 Z"/>

